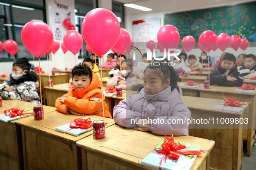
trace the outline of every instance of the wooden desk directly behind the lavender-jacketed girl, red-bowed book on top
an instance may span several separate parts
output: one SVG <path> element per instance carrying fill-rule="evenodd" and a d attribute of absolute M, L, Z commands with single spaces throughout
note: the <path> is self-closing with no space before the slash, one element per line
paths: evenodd
<path fill-rule="evenodd" d="M 206 125 L 190 124 L 189 126 L 189 135 L 211 139 L 216 142 L 214 149 L 211 151 L 210 169 L 241 170 L 243 157 L 243 124 L 224 127 L 220 122 L 219 125 L 217 125 L 216 119 L 218 118 L 219 121 L 221 118 L 243 119 L 245 110 L 243 110 L 242 113 L 215 110 L 213 107 L 223 102 L 223 100 L 217 99 L 181 96 L 181 100 L 191 111 L 191 118 L 194 120 L 211 120 L 211 123 Z M 248 110 L 248 108 L 246 108 L 246 110 Z M 214 124 L 212 124 L 212 119 L 214 119 Z M 229 156 L 220 156 L 224 153 Z"/>

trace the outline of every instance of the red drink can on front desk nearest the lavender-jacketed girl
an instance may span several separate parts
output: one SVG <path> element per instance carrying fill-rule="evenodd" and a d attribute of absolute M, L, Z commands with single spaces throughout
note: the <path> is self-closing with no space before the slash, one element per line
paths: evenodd
<path fill-rule="evenodd" d="M 104 120 L 93 121 L 93 139 L 100 140 L 105 138 Z"/>

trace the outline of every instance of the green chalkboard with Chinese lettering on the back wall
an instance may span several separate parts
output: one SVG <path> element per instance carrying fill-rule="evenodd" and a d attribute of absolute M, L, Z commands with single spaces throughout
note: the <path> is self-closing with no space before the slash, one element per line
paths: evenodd
<path fill-rule="evenodd" d="M 181 40 L 191 35 L 198 41 L 203 31 L 239 35 L 256 42 L 256 2 L 183 13 L 166 14 L 164 25 L 178 28 Z M 252 44 L 252 43 L 250 43 Z"/>

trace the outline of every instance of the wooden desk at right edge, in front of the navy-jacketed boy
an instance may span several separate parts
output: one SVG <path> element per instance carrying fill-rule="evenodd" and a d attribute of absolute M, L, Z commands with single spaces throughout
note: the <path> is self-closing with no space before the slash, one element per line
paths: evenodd
<path fill-rule="evenodd" d="M 255 94 L 246 94 L 234 92 L 235 87 L 223 87 L 223 86 L 212 86 L 210 85 L 209 89 L 204 87 L 199 87 L 201 98 L 215 98 L 215 99 L 224 99 L 225 98 L 235 98 L 243 102 L 251 102 L 248 108 L 245 111 L 244 117 L 247 117 L 251 122 L 251 125 L 244 126 L 244 139 L 247 140 L 247 156 L 250 156 L 251 149 L 255 141 L 255 127 L 256 127 L 256 93 Z"/>

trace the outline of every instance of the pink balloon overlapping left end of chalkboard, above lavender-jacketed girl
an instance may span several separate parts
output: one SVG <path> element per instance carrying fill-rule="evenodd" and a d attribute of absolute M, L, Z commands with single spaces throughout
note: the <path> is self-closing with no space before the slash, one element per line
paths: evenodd
<path fill-rule="evenodd" d="M 178 48 L 180 41 L 180 33 L 173 25 L 162 26 L 157 33 L 157 41 L 162 48 Z"/>

